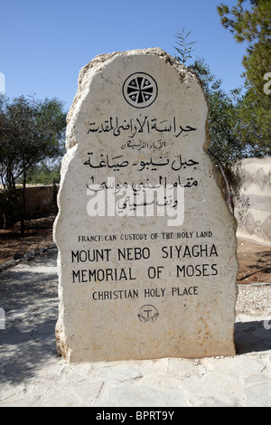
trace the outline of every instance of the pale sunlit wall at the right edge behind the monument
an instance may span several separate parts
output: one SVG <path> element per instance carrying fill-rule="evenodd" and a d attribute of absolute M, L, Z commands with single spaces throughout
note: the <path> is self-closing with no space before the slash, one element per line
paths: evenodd
<path fill-rule="evenodd" d="M 271 157 L 243 159 L 238 164 L 238 175 L 237 235 L 271 246 Z"/>

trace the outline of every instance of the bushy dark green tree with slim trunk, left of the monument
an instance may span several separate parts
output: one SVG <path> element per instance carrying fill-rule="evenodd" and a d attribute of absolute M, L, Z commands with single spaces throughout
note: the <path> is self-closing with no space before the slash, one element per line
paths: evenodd
<path fill-rule="evenodd" d="M 35 165 L 64 153 L 66 113 L 58 99 L 0 97 L 0 178 L 5 212 L 21 222 L 24 235 L 25 186 Z M 22 183 L 22 202 L 16 184 Z"/>

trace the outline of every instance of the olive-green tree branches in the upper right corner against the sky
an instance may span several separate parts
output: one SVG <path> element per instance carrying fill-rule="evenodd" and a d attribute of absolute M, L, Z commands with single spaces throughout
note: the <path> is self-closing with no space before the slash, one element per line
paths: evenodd
<path fill-rule="evenodd" d="M 264 90 L 271 72 L 271 2 L 238 0 L 237 5 L 218 6 L 221 24 L 237 42 L 247 42 L 243 58 L 246 94 L 239 105 L 240 134 L 251 156 L 271 155 L 271 96 Z"/>

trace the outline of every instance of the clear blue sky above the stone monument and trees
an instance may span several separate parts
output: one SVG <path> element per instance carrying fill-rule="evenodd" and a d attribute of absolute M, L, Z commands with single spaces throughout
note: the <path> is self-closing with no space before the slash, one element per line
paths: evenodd
<path fill-rule="evenodd" d="M 237 0 L 224 0 L 236 5 Z M 79 70 L 99 53 L 160 47 L 192 31 L 193 59 L 204 58 L 226 91 L 242 85 L 246 45 L 220 24 L 220 0 L 0 0 L 0 72 L 5 94 L 56 97 L 70 108 Z"/>

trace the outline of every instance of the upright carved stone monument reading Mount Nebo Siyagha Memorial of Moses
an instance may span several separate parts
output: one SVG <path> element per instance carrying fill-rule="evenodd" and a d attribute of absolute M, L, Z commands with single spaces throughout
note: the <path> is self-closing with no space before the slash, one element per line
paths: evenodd
<path fill-rule="evenodd" d="M 79 73 L 61 168 L 57 347 L 70 362 L 235 354 L 235 219 L 201 83 L 166 52 Z"/>

